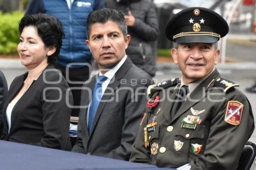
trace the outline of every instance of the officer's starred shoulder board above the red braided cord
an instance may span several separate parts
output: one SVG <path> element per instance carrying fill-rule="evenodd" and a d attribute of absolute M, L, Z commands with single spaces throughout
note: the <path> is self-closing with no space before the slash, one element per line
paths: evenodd
<path fill-rule="evenodd" d="M 173 87 L 178 84 L 180 81 L 180 78 L 173 78 L 171 80 L 163 81 L 161 83 L 152 84 L 148 87 L 147 93 L 150 95 L 151 93 L 155 93 L 157 91 L 160 91 L 162 88 L 166 89 L 168 87 Z M 161 88 L 159 88 L 161 87 Z"/>

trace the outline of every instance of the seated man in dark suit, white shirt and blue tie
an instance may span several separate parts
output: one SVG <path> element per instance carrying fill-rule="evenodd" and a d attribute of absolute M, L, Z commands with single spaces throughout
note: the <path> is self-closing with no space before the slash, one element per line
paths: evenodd
<path fill-rule="evenodd" d="M 129 160 L 152 79 L 125 54 L 130 35 L 121 12 L 106 8 L 92 12 L 87 36 L 100 72 L 83 86 L 72 151 Z"/>

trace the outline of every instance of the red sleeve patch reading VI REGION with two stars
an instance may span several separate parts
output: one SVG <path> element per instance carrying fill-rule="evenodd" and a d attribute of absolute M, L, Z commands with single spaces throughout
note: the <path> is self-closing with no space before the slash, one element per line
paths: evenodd
<path fill-rule="evenodd" d="M 244 105 L 238 101 L 229 101 L 227 104 L 225 122 L 232 125 L 239 125 Z"/>

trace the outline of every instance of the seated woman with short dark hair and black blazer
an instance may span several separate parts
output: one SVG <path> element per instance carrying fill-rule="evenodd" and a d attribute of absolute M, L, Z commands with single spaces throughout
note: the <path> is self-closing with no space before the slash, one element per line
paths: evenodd
<path fill-rule="evenodd" d="M 20 20 L 18 53 L 27 72 L 11 83 L 3 109 L 2 139 L 70 150 L 69 119 L 73 97 L 66 80 L 54 68 L 63 27 L 46 14 Z"/>

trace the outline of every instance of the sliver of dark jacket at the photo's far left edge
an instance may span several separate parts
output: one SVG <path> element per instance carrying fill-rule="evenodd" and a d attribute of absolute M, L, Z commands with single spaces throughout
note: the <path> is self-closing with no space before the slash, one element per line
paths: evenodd
<path fill-rule="evenodd" d="M 0 136 L 2 135 L 2 131 L 4 128 L 4 125 L 2 123 L 2 110 L 5 104 L 7 93 L 8 93 L 8 85 L 5 79 L 5 75 L 3 74 L 2 71 L 0 71 Z"/>

